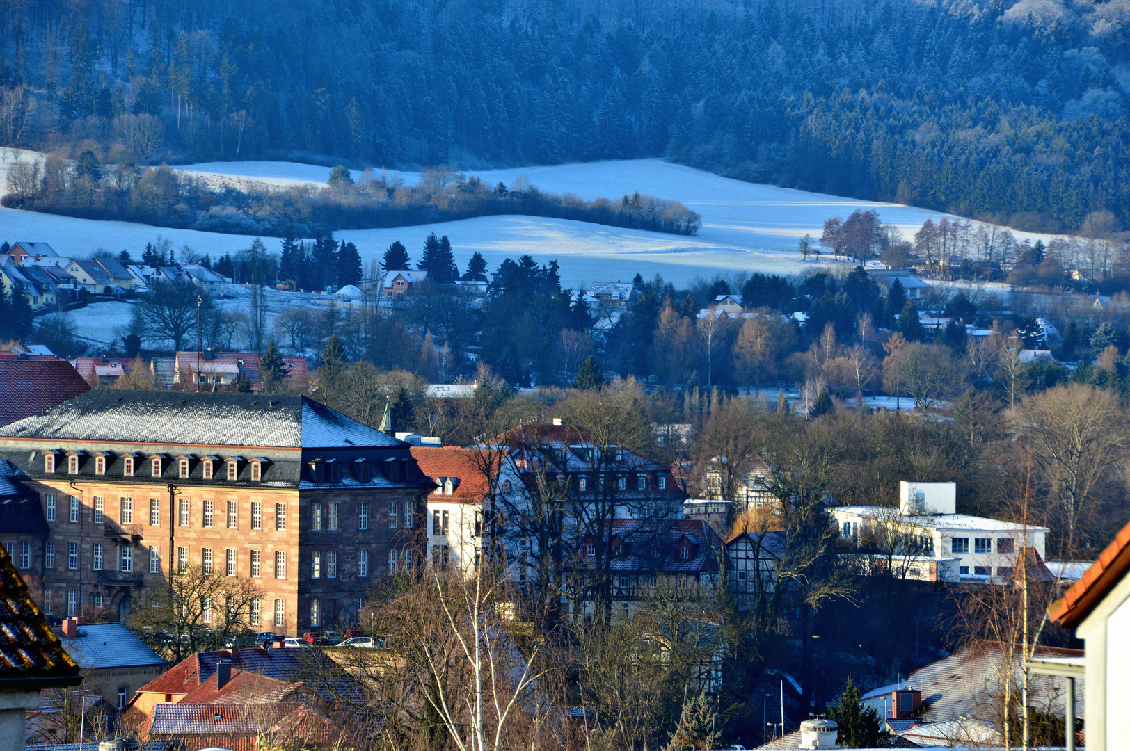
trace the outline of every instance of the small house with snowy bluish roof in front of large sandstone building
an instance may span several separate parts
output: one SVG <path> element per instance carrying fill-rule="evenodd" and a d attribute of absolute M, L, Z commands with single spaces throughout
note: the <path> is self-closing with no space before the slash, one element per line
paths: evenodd
<path fill-rule="evenodd" d="M 87 623 L 67 618 L 63 647 L 82 670 L 82 685 L 107 705 L 125 709 L 137 689 L 160 675 L 168 663 L 121 623 Z"/>

